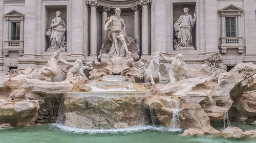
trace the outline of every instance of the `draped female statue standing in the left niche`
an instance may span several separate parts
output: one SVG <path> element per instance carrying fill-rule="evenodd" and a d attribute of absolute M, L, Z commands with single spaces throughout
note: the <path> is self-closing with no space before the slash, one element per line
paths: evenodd
<path fill-rule="evenodd" d="M 49 26 L 49 30 L 46 32 L 46 35 L 51 40 L 51 46 L 48 50 L 60 50 L 66 51 L 67 43 L 66 39 L 66 30 L 67 26 L 65 22 L 60 17 L 61 12 L 56 11 L 56 17 L 53 18 L 51 25 Z"/>

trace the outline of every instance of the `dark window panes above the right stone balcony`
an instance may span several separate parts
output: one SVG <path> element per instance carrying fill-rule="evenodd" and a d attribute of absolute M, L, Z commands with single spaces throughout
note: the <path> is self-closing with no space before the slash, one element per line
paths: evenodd
<path fill-rule="evenodd" d="M 236 17 L 226 17 L 226 37 L 236 36 Z"/>

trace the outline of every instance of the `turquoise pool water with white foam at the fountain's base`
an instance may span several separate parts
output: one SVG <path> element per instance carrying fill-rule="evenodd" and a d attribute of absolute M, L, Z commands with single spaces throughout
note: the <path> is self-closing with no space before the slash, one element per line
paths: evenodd
<path fill-rule="evenodd" d="M 240 124 L 244 130 L 247 128 L 255 129 L 256 126 Z M 68 128 L 59 124 L 45 124 L 32 127 L 15 127 L 0 130 L 0 142 L 104 142 L 104 143 L 174 143 L 174 142 L 256 142 L 256 138 L 247 140 L 228 140 L 216 138 L 210 135 L 178 136 L 183 131 L 172 131 L 167 128 L 132 127 L 129 129 L 110 129 L 110 130 L 85 130 Z"/>

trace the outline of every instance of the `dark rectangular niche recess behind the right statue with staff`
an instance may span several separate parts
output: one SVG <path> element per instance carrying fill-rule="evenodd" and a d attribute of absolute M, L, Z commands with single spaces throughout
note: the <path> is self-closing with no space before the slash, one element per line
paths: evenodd
<path fill-rule="evenodd" d="M 196 8 L 196 2 L 186 2 L 186 3 L 173 3 L 173 41 L 177 40 L 177 37 L 175 36 L 175 30 L 174 30 L 174 24 L 175 22 L 179 19 L 179 17 L 184 14 L 183 8 L 188 8 L 188 14 L 190 14 L 194 18 L 194 13 L 195 13 L 195 8 Z M 197 14 L 197 12 L 196 12 Z M 197 15 L 198 19 L 198 15 Z M 196 48 L 196 25 L 197 23 L 193 26 L 193 30 L 191 32 L 191 35 L 193 37 L 193 45 Z M 174 45 L 174 43 L 173 43 Z M 173 50 L 176 50 L 175 47 Z"/>

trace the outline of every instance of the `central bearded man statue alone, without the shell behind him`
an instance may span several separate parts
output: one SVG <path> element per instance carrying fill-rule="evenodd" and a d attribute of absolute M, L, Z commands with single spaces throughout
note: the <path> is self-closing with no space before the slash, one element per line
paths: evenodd
<path fill-rule="evenodd" d="M 125 24 L 123 19 L 120 16 L 121 10 L 119 8 L 115 9 L 115 15 L 110 16 L 105 20 L 104 30 L 108 30 L 109 24 L 111 28 L 109 28 L 109 39 L 112 41 L 112 46 L 108 55 L 110 57 L 116 56 L 124 56 L 126 54 L 131 53 L 127 44 L 129 42 L 129 38 L 125 34 Z"/>

